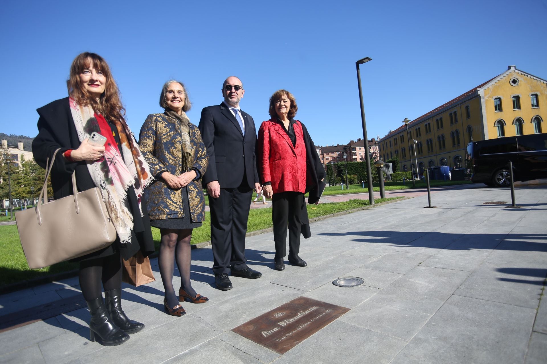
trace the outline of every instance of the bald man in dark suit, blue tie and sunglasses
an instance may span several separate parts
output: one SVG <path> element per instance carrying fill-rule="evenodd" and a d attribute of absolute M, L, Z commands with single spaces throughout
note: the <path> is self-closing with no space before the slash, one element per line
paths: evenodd
<path fill-rule="evenodd" d="M 260 278 L 247 267 L 245 234 L 253 188 L 260 192 L 254 147 L 257 132 L 251 115 L 241 111 L 245 94 L 241 80 L 228 77 L 222 85 L 224 102 L 201 111 L 199 129 L 209 166 L 203 175 L 211 208 L 213 272 L 220 290 L 229 290 L 228 277 Z M 230 269 L 231 267 L 231 269 Z"/>

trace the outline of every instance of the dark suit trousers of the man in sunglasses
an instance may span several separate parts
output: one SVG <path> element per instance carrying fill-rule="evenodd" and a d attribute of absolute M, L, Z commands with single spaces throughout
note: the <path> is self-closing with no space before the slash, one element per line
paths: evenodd
<path fill-rule="evenodd" d="M 220 188 L 220 196 L 209 196 L 211 245 L 215 275 L 247 267 L 245 234 L 253 190 L 247 186 Z"/>

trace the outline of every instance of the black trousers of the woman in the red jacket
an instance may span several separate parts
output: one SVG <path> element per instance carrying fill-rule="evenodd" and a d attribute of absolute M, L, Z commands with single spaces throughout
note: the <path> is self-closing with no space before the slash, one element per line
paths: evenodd
<path fill-rule="evenodd" d="M 272 199 L 272 220 L 274 221 L 275 258 L 287 255 L 287 220 L 289 228 L 289 253 L 300 251 L 300 230 L 302 221 L 300 212 L 304 204 L 301 192 L 275 193 Z"/>

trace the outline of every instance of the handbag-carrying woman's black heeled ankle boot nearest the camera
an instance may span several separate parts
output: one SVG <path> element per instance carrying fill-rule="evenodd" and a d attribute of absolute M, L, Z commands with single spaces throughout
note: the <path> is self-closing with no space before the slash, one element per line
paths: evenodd
<path fill-rule="evenodd" d="M 104 346 L 112 347 L 129 340 L 129 335 L 121 331 L 110 320 L 102 297 L 93 301 L 86 301 L 85 303 L 88 304 L 89 312 L 91 313 L 91 320 L 89 321 L 89 339 L 91 341 L 98 339 Z"/>

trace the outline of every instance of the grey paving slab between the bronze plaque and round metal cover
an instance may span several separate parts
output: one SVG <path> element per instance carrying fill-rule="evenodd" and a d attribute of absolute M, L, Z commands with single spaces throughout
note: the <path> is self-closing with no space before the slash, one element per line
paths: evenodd
<path fill-rule="evenodd" d="M 349 276 L 349 275 L 344 275 Z M 325 283 L 302 296 L 310 297 L 318 301 L 333 303 L 333 305 L 353 308 L 363 301 L 370 299 L 380 291 L 378 288 L 359 285 L 357 287 L 337 287 L 332 282 Z"/>

